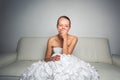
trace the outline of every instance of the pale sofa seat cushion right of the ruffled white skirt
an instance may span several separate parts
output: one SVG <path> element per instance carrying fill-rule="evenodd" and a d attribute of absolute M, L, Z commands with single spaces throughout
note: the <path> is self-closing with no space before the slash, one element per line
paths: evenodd
<path fill-rule="evenodd" d="M 98 71 L 100 80 L 119 80 L 120 67 L 106 63 L 91 63 Z"/>

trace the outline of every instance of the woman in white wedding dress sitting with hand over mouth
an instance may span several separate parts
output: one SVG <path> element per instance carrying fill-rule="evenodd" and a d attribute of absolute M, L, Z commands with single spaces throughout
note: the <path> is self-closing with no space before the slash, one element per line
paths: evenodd
<path fill-rule="evenodd" d="M 68 34 L 70 28 L 67 16 L 58 18 L 58 34 L 48 39 L 44 61 L 33 63 L 20 80 L 99 80 L 93 66 L 72 55 L 78 38 Z"/>

